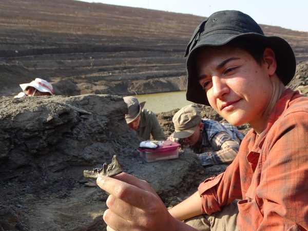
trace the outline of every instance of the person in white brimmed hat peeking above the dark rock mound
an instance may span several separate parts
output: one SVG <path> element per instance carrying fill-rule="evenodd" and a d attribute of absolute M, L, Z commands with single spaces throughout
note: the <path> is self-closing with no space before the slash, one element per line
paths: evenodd
<path fill-rule="evenodd" d="M 14 96 L 14 98 L 21 98 L 25 96 L 42 96 L 53 95 L 52 85 L 46 80 L 36 78 L 27 84 L 20 84 L 23 89 L 22 92 Z"/>

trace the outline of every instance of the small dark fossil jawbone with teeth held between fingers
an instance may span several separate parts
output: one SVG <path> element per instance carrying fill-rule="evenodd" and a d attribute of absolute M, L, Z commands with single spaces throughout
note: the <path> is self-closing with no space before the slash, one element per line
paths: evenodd
<path fill-rule="evenodd" d="M 114 155 L 111 164 L 104 163 L 102 168 L 94 168 L 91 170 L 84 170 L 84 177 L 97 179 L 100 175 L 112 177 L 120 174 L 123 171 L 117 156 Z"/>

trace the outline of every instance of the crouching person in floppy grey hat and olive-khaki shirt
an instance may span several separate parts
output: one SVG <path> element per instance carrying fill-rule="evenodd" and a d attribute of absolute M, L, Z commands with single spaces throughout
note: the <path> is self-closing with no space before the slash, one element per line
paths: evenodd
<path fill-rule="evenodd" d="M 132 130 L 136 130 L 139 137 L 144 140 L 166 140 L 166 136 L 160 126 L 156 114 L 150 110 L 144 109 L 145 102 L 139 103 L 135 97 L 124 97 L 127 104 L 128 114 L 125 114 L 125 120 Z"/>

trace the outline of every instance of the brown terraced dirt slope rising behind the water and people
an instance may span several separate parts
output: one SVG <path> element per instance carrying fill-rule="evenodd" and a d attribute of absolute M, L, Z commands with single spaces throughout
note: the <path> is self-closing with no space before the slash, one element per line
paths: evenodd
<path fill-rule="evenodd" d="M 185 90 L 183 54 L 204 17 L 72 0 L 2 0 L 0 94 L 35 77 L 56 94 Z M 308 32 L 261 25 L 308 60 Z"/>

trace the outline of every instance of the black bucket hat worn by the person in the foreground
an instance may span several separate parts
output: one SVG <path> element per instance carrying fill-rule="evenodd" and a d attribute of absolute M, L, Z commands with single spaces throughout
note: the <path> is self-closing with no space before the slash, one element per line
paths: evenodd
<path fill-rule="evenodd" d="M 284 85 L 293 78 L 296 60 L 291 46 L 277 36 L 265 36 L 261 27 L 247 14 L 236 10 L 218 11 L 211 14 L 195 30 L 187 45 L 187 90 L 188 101 L 209 105 L 206 94 L 192 70 L 192 56 L 201 47 L 221 46 L 236 39 L 251 41 L 272 48 L 276 55 L 276 73 Z"/>

